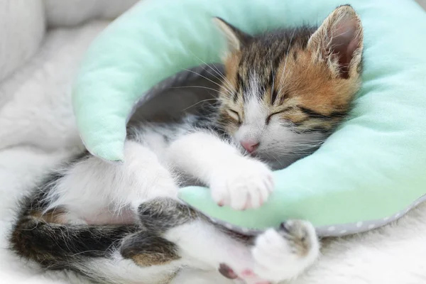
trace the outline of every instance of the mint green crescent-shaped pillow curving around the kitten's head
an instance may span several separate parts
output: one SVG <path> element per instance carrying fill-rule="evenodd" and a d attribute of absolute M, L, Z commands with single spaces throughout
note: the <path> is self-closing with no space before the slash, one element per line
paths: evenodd
<path fill-rule="evenodd" d="M 207 189 L 180 197 L 226 226 L 251 232 L 308 219 L 322 236 L 398 219 L 426 193 L 426 13 L 411 0 L 356 0 L 364 26 L 364 84 L 351 119 L 316 153 L 275 172 L 263 207 L 218 207 Z M 73 107 L 94 155 L 123 159 L 126 121 L 155 84 L 180 70 L 219 62 L 220 16 L 248 33 L 320 23 L 338 0 L 143 1 L 94 41 L 82 62 Z"/>

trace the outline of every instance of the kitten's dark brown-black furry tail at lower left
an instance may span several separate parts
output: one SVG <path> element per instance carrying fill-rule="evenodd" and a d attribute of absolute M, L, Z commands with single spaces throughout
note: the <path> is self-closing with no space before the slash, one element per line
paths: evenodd
<path fill-rule="evenodd" d="M 133 225 L 60 224 L 40 213 L 24 208 L 9 244 L 19 256 L 49 269 L 80 270 L 77 263 L 84 259 L 109 258 L 124 237 L 137 230 Z"/>

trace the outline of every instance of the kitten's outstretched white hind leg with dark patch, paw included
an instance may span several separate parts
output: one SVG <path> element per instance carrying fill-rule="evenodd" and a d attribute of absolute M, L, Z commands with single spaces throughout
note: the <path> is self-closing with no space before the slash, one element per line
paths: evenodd
<path fill-rule="evenodd" d="M 315 229 L 308 222 L 288 221 L 252 240 L 232 236 L 175 200 L 145 202 L 139 207 L 139 217 L 141 224 L 151 226 L 151 231 L 157 228 L 163 239 L 174 244 L 181 258 L 193 260 L 190 267 L 220 268 L 222 275 L 249 284 L 293 278 L 319 254 Z M 226 267 L 229 271 L 224 271 Z"/>

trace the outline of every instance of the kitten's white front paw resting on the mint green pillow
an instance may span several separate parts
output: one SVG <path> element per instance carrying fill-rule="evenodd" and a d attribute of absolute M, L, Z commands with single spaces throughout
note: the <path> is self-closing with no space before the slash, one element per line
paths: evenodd
<path fill-rule="evenodd" d="M 273 191 L 272 171 L 258 160 L 241 158 L 218 172 L 210 188 L 219 205 L 236 210 L 258 208 Z"/>

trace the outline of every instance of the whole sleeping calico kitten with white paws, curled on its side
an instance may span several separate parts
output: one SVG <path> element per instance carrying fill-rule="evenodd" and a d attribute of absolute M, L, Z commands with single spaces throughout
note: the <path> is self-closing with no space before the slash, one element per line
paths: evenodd
<path fill-rule="evenodd" d="M 312 153 L 348 114 L 360 84 L 359 17 L 339 6 L 319 28 L 254 36 L 215 21 L 229 42 L 219 104 L 131 129 L 121 165 L 82 153 L 45 177 L 13 228 L 18 255 L 101 283 L 278 282 L 315 261 L 310 223 L 240 236 L 180 203 L 173 173 L 237 210 L 266 202 L 271 168 Z"/>

